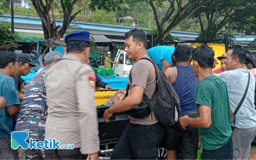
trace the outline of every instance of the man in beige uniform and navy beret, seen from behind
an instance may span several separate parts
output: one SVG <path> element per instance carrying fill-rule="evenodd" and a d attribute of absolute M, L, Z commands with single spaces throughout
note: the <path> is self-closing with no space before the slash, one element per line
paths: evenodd
<path fill-rule="evenodd" d="M 94 98 L 96 77 L 86 64 L 90 33 L 84 30 L 65 38 L 67 55 L 44 76 L 48 116 L 45 139 L 55 139 L 67 149 L 47 149 L 47 160 L 97 160 L 99 130 Z"/>

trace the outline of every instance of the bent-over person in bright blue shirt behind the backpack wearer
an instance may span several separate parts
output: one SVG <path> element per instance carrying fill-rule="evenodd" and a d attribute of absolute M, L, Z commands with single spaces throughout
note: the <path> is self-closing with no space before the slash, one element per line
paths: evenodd
<path fill-rule="evenodd" d="M 175 47 L 171 46 L 156 46 L 147 50 L 148 57 L 153 59 L 155 64 L 165 72 L 169 67 L 174 67 L 172 63 L 172 54 Z"/>

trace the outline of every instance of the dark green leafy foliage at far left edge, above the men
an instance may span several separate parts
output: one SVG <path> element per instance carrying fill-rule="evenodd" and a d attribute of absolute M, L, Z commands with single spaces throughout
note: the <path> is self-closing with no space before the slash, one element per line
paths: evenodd
<path fill-rule="evenodd" d="M 20 35 L 15 32 L 12 34 L 11 23 L 5 20 L 0 20 L 0 46 L 14 44 L 15 41 L 20 41 Z"/>

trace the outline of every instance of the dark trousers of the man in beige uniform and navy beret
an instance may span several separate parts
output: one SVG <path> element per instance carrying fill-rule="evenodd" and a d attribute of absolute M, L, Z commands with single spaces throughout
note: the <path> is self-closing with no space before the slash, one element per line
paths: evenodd
<path fill-rule="evenodd" d="M 44 160 L 86 160 L 87 154 L 81 154 L 80 148 L 46 149 Z"/>

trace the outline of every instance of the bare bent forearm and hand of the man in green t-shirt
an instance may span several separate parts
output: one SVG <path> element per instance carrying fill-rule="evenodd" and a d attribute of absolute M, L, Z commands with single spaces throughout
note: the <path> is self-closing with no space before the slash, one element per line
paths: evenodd
<path fill-rule="evenodd" d="M 206 105 L 199 105 L 200 116 L 197 118 L 189 118 L 188 116 L 183 116 L 180 118 L 180 124 L 183 127 L 192 125 L 196 128 L 209 128 L 212 124 L 212 108 Z"/>

